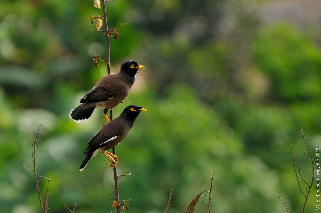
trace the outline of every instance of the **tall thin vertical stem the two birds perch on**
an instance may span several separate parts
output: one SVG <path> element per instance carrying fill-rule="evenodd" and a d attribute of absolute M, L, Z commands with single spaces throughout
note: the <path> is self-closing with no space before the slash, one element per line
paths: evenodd
<path fill-rule="evenodd" d="M 107 46 L 107 58 L 106 58 L 106 64 L 107 64 L 107 73 L 110 74 L 110 47 L 109 47 L 109 36 L 107 36 L 108 33 L 108 24 L 107 24 L 107 14 L 106 14 L 106 2 L 105 0 L 102 0 L 102 7 L 104 11 L 104 23 L 105 23 L 105 37 L 106 37 L 106 46 Z M 110 111 L 110 121 L 113 120 L 113 110 Z M 116 155 L 116 149 L 113 147 L 113 154 Z M 117 176 L 117 168 L 116 166 L 113 168 L 114 170 L 114 182 L 115 182 L 115 199 L 117 201 L 117 212 L 120 212 L 119 207 L 119 193 L 118 193 L 118 176 Z"/>

